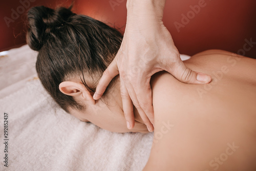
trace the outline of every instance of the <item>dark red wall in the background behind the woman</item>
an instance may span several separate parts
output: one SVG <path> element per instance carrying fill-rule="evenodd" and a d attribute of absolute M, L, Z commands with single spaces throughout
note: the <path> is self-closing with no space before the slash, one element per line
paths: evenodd
<path fill-rule="evenodd" d="M 27 2 L 25 7 L 29 9 L 38 5 L 52 8 L 57 5 L 69 6 L 72 0 L 1 1 L 0 51 L 25 44 L 24 22 L 28 9 L 23 8 L 21 2 Z M 73 10 L 124 31 L 125 5 L 126 0 L 76 0 Z M 200 11 L 195 5 L 201 5 L 201 7 L 197 6 L 200 7 Z M 196 13 L 192 12 L 191 7 L 197 10 Z M 12 19 L 12 9 L 21 14 L 16 16 L 17 18 L 14 16 L 8 27 L 5 18 Z M 187 20 L 182 17 L 184 16 L 182 14 L 186 17 L 188 14 L 188 18 L 185 18 Z M 223 49 L 241 54 L 246 52 L 246 56 L 256 58 L 256 45 L 251 47 L 245 45 L 250 39 L 256 42 L 256 1 L 254 0 L 167 0 L 163 22 L 172 34 L 180 53 L 193 55 L 207 49 Z M 177 29 L 175 25 L 179 25 L 180 28 Z"/>

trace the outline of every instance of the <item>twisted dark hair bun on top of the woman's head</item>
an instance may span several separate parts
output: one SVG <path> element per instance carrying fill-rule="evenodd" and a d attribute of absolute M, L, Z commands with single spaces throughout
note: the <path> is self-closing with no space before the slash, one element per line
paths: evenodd
<path fill-rule="evenodd" d="M 44 39 L 52 29 L 63 26 L 70 16 L 75 15 L 70 8 L 60 7 L 56 10 L 44 6 L 33 7 L 28 11 L 29 29 L 27 44 L 33 50 L 40 50 Z"/>

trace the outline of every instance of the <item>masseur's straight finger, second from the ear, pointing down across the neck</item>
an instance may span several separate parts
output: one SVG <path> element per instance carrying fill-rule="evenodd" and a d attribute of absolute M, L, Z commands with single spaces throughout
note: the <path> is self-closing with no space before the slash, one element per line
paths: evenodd
<path fill-rule="evenodd" d="M 133 102 L 121 78 L 120 78 L 120 93 L 121 93 L 122 104 L 123 104 L 124 118 L 126 120 L 127 128 L 131 130 L 133 129 L 134 123 L 135 123 L 134 113 L 133 113 Z"/>

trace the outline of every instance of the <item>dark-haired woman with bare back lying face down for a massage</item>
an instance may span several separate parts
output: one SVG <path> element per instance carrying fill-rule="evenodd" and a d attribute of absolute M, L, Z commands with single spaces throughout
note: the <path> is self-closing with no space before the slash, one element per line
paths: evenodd
<path fill-rule="evenodd" d="M 118 76 L 100 100 L 92 97 L 122 35 L 66 8 L 34 7 L 28 20 L 27 42 L 39 52 L 39 79 L 59 106 L 102 129 L 130 132 Z M 155 132 L 144 170 L 256 170 L 256 60 L 208 50 L 184 63 L 212 81 L 186 84 L 166 72 L 153 75 Z M 132 132 L 147 133 L 134 112 Z"/>

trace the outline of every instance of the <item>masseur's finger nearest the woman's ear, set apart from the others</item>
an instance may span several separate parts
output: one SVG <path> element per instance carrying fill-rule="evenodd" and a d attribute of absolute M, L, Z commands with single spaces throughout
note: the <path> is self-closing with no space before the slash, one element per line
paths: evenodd
<path fill-rule="evenodd" d="M 118 71 L 117 63 L 116 63 L 116 60 L 114 59 L 110 63 L 109 67 L 106 68 L 106 70 L 103 72 L 103 75 L 99 80 L 99 83 L 96 87 L 96 91 L 93 95 L 94 100 L 98 100 L 103 95 L 104 91 L 109 86 L 109 83 L 111 82 L 111 80 L 118 74 L 119 74 L 119 71 Z"/>

